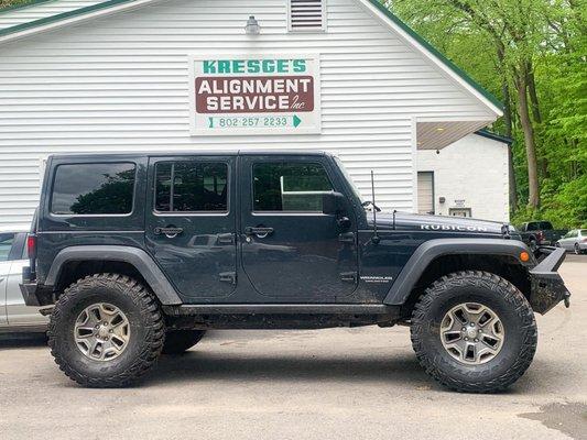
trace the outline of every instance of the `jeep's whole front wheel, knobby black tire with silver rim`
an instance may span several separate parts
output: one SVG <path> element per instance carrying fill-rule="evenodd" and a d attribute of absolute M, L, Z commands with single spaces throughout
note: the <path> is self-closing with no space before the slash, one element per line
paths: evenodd
<path fill-rule="evenodd" d="M 486 272 L 435 282 L 412 315 L 412 345 L 426 373 L 448 388 L 492 393 L 530 366 L 537 330 L 526 298 Z"/>

